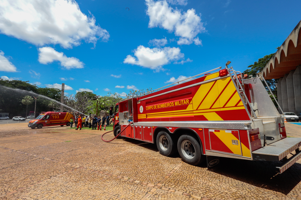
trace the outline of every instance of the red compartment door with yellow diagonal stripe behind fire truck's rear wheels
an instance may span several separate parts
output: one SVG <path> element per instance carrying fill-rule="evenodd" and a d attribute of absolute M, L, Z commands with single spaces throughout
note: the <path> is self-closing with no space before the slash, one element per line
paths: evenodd
<path fill-rule="evenodd" d="M 210 149 L 242 156 L 238 130 L 209 129 Z"/>

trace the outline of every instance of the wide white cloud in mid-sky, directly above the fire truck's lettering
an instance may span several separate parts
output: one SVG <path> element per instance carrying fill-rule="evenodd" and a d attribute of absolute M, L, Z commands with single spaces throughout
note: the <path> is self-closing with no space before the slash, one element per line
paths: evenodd
<path fill-rule="evenodd" d="M 170 61 L 177 61 L 184 58 L 180 48 L 164 47 L 164 48 L 148 48 L 142 45 L 134 50 L 134 55 L 127 55 L 123 63 L 136 64 L 142 67 L 150 68 L 155 71 L 164 70 L 163 65 L 169 64 Z"/>

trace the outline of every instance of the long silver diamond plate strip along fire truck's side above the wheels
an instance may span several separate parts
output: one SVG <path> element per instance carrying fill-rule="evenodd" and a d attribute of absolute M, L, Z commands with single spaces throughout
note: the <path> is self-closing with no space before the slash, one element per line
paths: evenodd
<path fill-rule="evenodd" d="M 248 130 L 252 128 L 251 123 L 252 121 L 151 121 L 136 122 L 135 126 Z"/>

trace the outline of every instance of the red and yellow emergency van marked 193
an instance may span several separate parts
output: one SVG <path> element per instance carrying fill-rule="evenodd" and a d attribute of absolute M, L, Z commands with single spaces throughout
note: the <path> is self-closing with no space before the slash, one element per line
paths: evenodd
<path fill-rule="evenodd" d="M 29 121 L 28 127 L 42 128 L 48 126 L 70 126 L 70 119 L 74 116 L 69 112 L 42 112 L 36 119 Z"/>

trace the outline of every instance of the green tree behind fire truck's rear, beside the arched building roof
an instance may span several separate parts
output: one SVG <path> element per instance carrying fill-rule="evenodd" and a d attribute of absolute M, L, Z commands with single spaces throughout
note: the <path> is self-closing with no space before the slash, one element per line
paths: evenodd
<path fill-rule="evenodd" d="M 279 47 L 277 47 L 276 49 L 279 49 Z M 263 70 L 265 65 L 268 64 L 268 61 L 273 57 L 274 54 L 275 53 L 272 53 L 270 55 L 265 55 L 263 58 L 259 58 L 258 61 L 254 62 L 254 64 L 248 66 L 248 68 L 250 69 L 245 70 L 244 74 L 248 74 L 249 76 L 252 75 L 253 77 L 256 77 L 257 73 Z M 279 79 L 268 79 L 265 81 L 267 82 L 268 86 L 271 88 L 271 91 L 273 92 L 277 100 L 277 82 L 279 81 Z M 265 85 L 263 81 L 262 84 L 265 86 L 265 89 L 268 91 L 268 94 L 271 94 L 270 91 L 268 90 L 268 87 Z M 278 108 L 278 105 L 272 96 L 271 99 L 274 105 L 276 106 L 276 108 Z"/>

